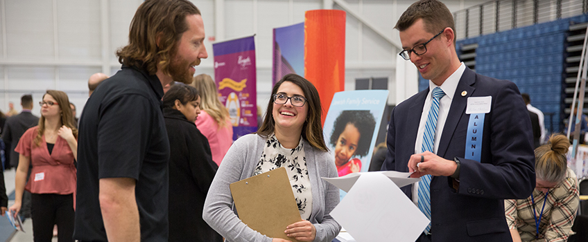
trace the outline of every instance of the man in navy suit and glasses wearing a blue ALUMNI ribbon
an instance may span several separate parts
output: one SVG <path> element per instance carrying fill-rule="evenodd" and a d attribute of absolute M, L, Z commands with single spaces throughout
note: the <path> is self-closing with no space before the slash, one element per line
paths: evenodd
<path fill-rule="evenodd" d="M 431 175 L 422 188 L 426 199 L 419 198 L 419 185 L 402 188 L 417 204 L 430 201 L 431 227 L 417 241 L 511 241 L 503 199 L 526 198 L 535 188 L 533 133 L 517 86 L 459 61 L 453 16 L 440 1 L 413 3 L 395 28 L 400 55 L 430 80 L 429 89 L 392 110 L 382 165 L 415 171 L 413 177 Z M 436 87 L 444 95 L 433 101 Z M 436 122 L 427 121 L 431 106 L 438 106 L 431 112 Z M 425 131 L 428 122 L 436 123 L 433 134 Z M 424 141 L 427 135 L 433 140 Z M 424 142 L 431 151 L 424 151 Z"/>

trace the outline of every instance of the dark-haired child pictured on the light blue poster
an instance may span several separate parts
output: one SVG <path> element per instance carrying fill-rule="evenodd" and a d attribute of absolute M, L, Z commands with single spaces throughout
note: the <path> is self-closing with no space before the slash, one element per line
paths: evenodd
<path fill-rule="evenodd" d="M 339 176 L 361 171 L 361 160 L 352 157 L 367 156 L 374 129 L 376 120 L 369 110 L 345 110 L 335 119 L 331 145 Z"/>

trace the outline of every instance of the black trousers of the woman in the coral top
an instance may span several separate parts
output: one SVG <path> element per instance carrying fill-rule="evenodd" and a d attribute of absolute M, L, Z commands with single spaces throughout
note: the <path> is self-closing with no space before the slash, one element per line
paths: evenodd
<path fill-rule="evenodd" d="M 31 194 L 31 205 L 35 242 L 51 241 L 55 224 L 59 242 L 74 241 L 73 194 Z"/>

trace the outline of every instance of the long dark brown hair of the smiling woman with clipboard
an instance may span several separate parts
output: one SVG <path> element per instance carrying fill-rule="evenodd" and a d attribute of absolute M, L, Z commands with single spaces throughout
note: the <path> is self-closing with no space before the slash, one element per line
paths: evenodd
<path fill-rule="evenodd" d="M 300 75 L 288 74 L 282 77 L 282 80 L 277 82 L 272 90 L 272 95 L 268 102 L 268 109 L 266 109 L 266 118 L 264 118 L 261 127 L 257 134 L 263 138 L 268 138 L 275 131 L 275 120 L 273 116 L 273 96 L 277 93 L 279 86 L 284 82 L 292 82 L 296 86 L 300 86 L 304 97 L 306 97 L 306 104 L 309 105 L 309 113 L 307 115 L 308 121 L 302 124 L 302 138 L 309 142 L 312 147 L 322 151 L 329 151 L 325 145 L 325 138 L 322 136 L 322 109 L 320 107 L 320 97 L 314 85 Z"/>

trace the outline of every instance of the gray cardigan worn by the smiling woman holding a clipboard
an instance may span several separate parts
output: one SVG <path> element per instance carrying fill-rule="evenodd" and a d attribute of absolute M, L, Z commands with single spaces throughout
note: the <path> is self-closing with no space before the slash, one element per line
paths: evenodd
<path fill-rule="evenodd" d="M 266 139 L 257 134 L 248 134 L 236 140 L 220 163 L 210 185 L 202 218 L 229 242 L 272 241 L 272 238 L 245 225 L 232 211 L 234 204 L 229 187 L 231 183 L 253 174 L 265 142 Z M 329 215 L 339 203 L 339 189 L 320 178 L 338 176 L 334 158 L 329 152 L 311 147 L 306 140 L 304 156 L 312 186 L 313 208 L 309 221 L 316 228 L 314 241 L 330 242 L 341 230 L 341 226 Z"/>

